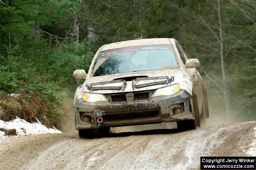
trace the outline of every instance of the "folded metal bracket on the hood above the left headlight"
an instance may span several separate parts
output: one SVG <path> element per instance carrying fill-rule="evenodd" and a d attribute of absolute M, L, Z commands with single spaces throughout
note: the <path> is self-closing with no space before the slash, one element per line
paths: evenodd
<path fill-rule="evenodd" d="M 95 85 L 105 85 L 105 84 L 111 84 L 111 83 L 119 83 L 122 82 L 121 86 L 108 86 L 108 87 L 93 87 Z M 98 82 L 98 83 L 91 83 L 86 84 L 86 87 L 88 90 L 90 91 L 94 91 L 94 90 L 121 90 L 123 88 L 123 91 L 126 87 L 126 81 L 124 79 L 120 79 L 120 80 L 112 80 L 112 81 L 106 81 L 106 82 Z"/>

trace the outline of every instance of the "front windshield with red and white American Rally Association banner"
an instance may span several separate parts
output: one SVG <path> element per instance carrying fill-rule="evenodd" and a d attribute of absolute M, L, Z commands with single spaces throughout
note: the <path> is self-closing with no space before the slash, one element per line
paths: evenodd
<path fill-rule="evenodd" d="M 177 67 L 171 45 L 133 46 L 100 52 L 94 63 L 93 76 Z"/>

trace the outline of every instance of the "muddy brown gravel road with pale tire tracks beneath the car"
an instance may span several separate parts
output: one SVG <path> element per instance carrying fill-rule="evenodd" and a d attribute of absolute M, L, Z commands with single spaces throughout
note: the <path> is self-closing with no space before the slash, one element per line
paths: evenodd
<path fill-rule="evenodd" d="M 0 169 L 199 169 L 200 156 L 256 156 L 256 122 L 116 133 L 0 139 Z"/>

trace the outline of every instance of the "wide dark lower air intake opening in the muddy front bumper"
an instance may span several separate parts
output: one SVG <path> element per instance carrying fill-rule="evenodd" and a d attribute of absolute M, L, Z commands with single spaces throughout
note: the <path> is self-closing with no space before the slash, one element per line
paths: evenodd
<path fill-rule="evenodd" d="M 154 117 L 159 114 L 159 110 L 150 110 L 144 112 L 133 112 L 133 113 L 106 113 L 104 115 L 104 120 L 112 121 L 112 120 L 122 120 L 122 119 L 133 119 L 133 118 L 148 118 Z"/>

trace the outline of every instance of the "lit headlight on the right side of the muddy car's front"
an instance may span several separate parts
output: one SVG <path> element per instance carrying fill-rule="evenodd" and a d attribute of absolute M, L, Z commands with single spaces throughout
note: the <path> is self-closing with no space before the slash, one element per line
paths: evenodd
<path fill-rule="evenodd" d="M 157 97 L 157 96 L 169 96 L 169 95 L 173 95 L 175 93 L 177 93 L 178 91 L 180 91 L 180 85 L 179 84 L 174 84 L 174 85 L 170 85 L 167 87 L 163 87 L 163 88 L 158 88 L 155 93 L 153 93 L 151 95 L 152 97 Z"/>

